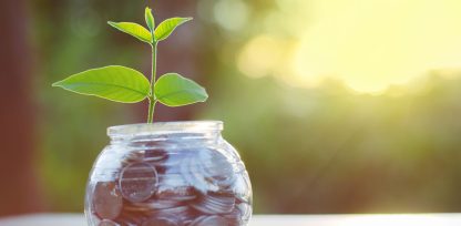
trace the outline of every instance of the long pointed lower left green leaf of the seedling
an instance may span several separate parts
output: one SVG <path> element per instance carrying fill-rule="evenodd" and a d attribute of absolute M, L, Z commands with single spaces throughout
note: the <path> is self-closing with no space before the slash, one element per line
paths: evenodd
<path fill-rule="evenodd" d="M 150 92 L 150 82 L 141 72 L 121 65 L 80 72 L 53 83 L 53 86 L 122 103 L 140 102 Z"/>

